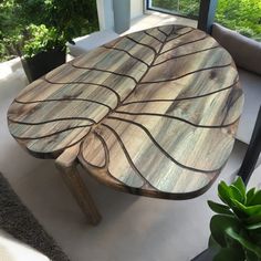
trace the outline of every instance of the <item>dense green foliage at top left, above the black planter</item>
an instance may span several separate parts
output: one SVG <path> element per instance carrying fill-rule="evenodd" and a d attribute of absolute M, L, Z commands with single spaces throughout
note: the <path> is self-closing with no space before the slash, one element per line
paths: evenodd
<path fill-rule="evenodd" d="M 95 0 L 2 0 L 0 61 L 65 48 L 98 29 Z"/>

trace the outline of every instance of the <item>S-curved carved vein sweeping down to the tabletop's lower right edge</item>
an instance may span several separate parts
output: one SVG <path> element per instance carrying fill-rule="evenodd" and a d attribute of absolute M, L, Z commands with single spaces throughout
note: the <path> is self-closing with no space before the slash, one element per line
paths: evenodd
<path fill-rule="evenodd" d="M 178 165 L 181 168 L 186 168 L 196 173 L 205 173 L 205 174 L 210 174 L 210 173 L 216 173 L 216 171 L 220 171 L 220 168 L 218 169 L 213 169 L 213 170 L 205 170 L 205 169 L 198 169 L 198 168 L 192 168 L 186 165 L 180 164 L 179 161 L 177 161 L 174 157 L 171 157 L 157 142 L 156 139 L 153 137 L 153 135 L 149 133 L 149 130 L 144 127 L 142 124 L 126 119 L 126 118 L 119 118 L 119 117 L 115 117 L 115 116 L 108 116 L 107 118 L 111 119 L 115 119 L 115 121 L 122 121 L 122 122 L 126 122 L 133 125 L 138 126 L 144 133 L 147 134 L 147 136 L 150 138 L 150 140 L 154 143 L 154 145 L 167 157 L 169 158 L 173 163 L 175 163 L 176 165 Z"/>

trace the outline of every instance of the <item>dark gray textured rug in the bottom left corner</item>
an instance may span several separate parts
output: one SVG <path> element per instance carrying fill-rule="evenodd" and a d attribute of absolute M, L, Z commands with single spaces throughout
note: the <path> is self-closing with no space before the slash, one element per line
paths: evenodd
<path fill-rule="evenodd" d="M 0 228 L 53 261 L 69 261 L 0 173 Z"/>

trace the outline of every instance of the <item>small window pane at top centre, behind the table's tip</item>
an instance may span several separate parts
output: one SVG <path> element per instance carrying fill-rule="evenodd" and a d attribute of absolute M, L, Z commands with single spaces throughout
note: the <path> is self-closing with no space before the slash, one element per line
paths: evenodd
<path fill-rule="evenodd" d="M 199 0 L 150 0 L 149 8 L 158 11 L 167 11 L 188 18 L 197 18 Z"/>

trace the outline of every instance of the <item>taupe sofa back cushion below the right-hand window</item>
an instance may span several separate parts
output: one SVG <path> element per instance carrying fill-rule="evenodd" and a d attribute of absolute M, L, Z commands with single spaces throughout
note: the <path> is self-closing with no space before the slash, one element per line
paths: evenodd
<path fill-rule="evenodd" d="M 212 27 L 212 36 L 229 51 L 236 64 L 261 75 L 261 43 L 229 30 L 218 23 Z"/>

